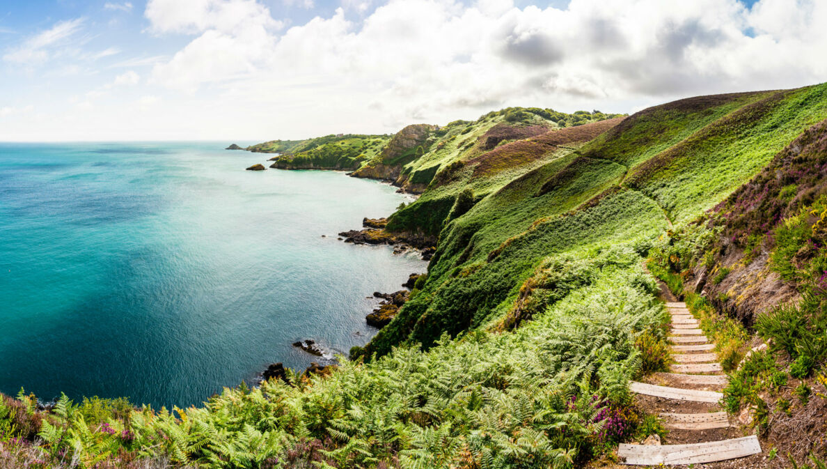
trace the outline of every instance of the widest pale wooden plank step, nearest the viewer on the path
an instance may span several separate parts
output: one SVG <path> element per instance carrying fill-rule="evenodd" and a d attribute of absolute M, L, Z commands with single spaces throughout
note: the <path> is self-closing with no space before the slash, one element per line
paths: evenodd
<path fill-rule="evenodd" d="M 703 464 L 726 461 L 761 452 L 761 443 L 755 435 L 719 442 L 688 445 L 630 445 L 621 443 L 618 457 L 624 464 L 636 466 Z"/>

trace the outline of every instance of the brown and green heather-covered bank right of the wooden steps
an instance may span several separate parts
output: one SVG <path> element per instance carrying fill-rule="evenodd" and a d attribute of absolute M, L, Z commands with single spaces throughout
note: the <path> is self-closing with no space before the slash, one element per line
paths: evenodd
<path fill-rule="evenodd" d="M 827 453 L 820 439 L 827 429 L 825 219 L 822 120 L 709 215 L 665 237 L 656 256 L 665 267 L 658 273 L 687 302 L 753 326 L 750 344 L 743 327 L 736 337 L 722 327 L 731 319 L 710 317 L 713 329 L 729 336 L 730 346 L 719 351 L 733 364 L 724 404 L 731 413 L 752 409 L 760 433 L 794 463 Z M 768 347 L 749 352 L 756 342 Z"/>

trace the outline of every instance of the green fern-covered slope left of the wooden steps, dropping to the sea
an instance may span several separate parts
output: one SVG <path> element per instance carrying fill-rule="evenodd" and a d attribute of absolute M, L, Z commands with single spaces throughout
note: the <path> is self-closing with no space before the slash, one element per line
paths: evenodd
<path fill-rule="evenodd" d="M 117 467 L 136 457 L 209 467 L 571 467 L 599 455 L 639 423 L 626 389 L 641 367 L 633 344 L 662 340 L 664 312 L 641 263 L 663 243 L 664 214 L 683 223 L 748 181 L 827 118 L 824 89 L 678 101 L 562 147 L 543 147 L 561 130 L 489 144 L 509 113 L 512 125 L 523 118 L 519 128 L 566 123 L 548 113 L 453 123 L 402 170 L 423 172 L 428 190 L 391 224 L 440 242 L 423 288 L 366 347 L 375 360 L 345 362 L 324 379 L 293 375 L 296 387 L 227 389 L 179 410 L 185 418 L 65 401 L 44 416 L 25 397 L 7 399 L 0 444 L 12 450 L 0 463 L 39 467 L 20 463 L 36 457 L 60 467 L 68 452 L 85 467 L 95 457 Z M 476 204 L 447 221 L 469 190 Z M 9 439 L 37 431 L 36 446 Z"/>

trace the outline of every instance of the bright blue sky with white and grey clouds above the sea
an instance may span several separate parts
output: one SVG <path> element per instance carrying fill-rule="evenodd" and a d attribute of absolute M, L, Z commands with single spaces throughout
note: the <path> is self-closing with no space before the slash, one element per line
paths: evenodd
<path fill-rule="evenodd" d="M 0 0 L 0 140 L 393 133 L 827 81 L 825 0 Z"/>

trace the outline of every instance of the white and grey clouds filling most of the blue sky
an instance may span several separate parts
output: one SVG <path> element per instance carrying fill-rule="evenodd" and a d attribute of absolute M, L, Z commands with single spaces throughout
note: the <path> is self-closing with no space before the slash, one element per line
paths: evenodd
<path fill-rule="evenodd" d="M 827 80 L 820 0 L 572 0 L 565 8 L 342 0 L 303 24 L 258 0 L 150 0 L 142 13 L 145 36 L 179 46 L 121 57 L 146 68 L 141 80 L 132 71 L 116 81 L 154 105 L 135 96 L 131 108 L 120 107 L 134 115 L 104 115 L 98 106 L 89 117 L 133 123 L 146 138 L 393 132 L 509 105 L 632 112 L 696 94 Z M 83 27 L 82 19 L 59 22 L 3 58 L 42 62 Z M 153 123 L 135 124 L 160 104 Z"/>

